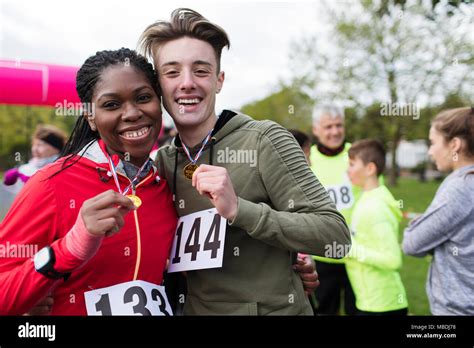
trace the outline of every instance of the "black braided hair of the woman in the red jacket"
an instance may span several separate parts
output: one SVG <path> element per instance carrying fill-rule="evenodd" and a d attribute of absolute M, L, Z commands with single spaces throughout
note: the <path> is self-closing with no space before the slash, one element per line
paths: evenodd
<path fill-rule="evenodd" d="M 110 66 L 122 64 L 131 65 L 143 72 L 156 94 L 158 96 L 160 95 L 155 70 L 143 56 L 128 48 L 121 48 L 113 51 L 99 51 L 95 55 L 87 58 L 76 75 L 77 94 L 79 95 L 83 106 L 89 106 L 86 107 L 89 113 L 91 112 L 90 106 L 92 105 L 92 96 L 94 95 L 97 83 L 100 81 L 102 72 Z M 77 120 L 71 136 L 61 151 L 60 157 L 66 157 L 61 166 L 61 170 L 52 176 L 76 163 L 80 159 L 80 156 L 77 156 L 77 154 L 86 145 L 92 145 L 93 140 L 99 138 L 99 132 L 93 131 L 90 128 L 86 117 L 82 114 Z"/>

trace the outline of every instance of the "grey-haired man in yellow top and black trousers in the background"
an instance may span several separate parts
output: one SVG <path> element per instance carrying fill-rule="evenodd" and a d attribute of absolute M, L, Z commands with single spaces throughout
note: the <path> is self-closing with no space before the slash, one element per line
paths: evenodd
<path fill-rule="evenodd" d="M 346 173 L 351 144 L 345 141 L 344 109 L 334 104 L 317 105 L 313 110 L 313 135 L 317 138 L 317 143 L 311 147 L 311 169 L 350 226 L 354 189 Z M 313 310 L 316 314 L 337 315 L 343 291 L 345 313 L 354 315 L 355 296 L 344 261 L 329 259 L 336 252 L 337 250 L 328 246 L 325 255 L 328 258 L 313 256 L 317 261 L 320 280 L 315 292 L 317 303 L 313 304 Z"/>

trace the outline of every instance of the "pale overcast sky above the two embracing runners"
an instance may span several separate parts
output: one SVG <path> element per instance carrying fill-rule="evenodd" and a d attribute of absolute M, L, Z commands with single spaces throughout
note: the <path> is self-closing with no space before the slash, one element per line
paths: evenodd
<path fill-rule="evenodd" d="M 229 34 L 217 109 L 240 108 L 290 76 L 292 40 L 324 30 L 318 1 L 0 0 L 0 59 L 80 66 L 98 50 L 136 48 L 139 35 L 178 7 Z"/>

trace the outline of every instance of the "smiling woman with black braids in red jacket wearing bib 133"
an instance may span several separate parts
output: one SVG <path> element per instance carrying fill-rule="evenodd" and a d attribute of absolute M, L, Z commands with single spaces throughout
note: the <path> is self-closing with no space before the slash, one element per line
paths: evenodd
<path fill-rule="evenodd" d="M 170 314 L 160 284 L 177 217 L 149 159 L 156 86 L 129 49 L 83 64 L 77 92 L 88 107 L 63 157 L 27 182 L 0 225 L 0 315 L 46 296 L 53 315 Z"/>

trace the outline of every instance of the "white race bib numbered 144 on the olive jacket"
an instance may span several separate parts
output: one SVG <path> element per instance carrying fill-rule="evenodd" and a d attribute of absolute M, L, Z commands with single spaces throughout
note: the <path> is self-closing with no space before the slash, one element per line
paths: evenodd
<path fill-rule="evenodd" d="M 168 273 L 222 267 L 227 220 L 215 208 L 182 216 L 171 248 Z"/>

